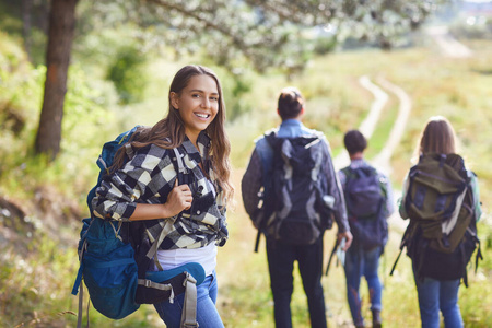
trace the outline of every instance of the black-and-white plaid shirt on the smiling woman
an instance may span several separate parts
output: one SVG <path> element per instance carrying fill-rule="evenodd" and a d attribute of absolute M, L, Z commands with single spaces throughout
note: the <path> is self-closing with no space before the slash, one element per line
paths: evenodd
<path fill-rule="evenodd" d="M 143 221 L 147 235 L 153 243 L 159 239 L 166 222 L 175 220 L 171 229 L 167 224 L 168 231 L 160 249 L 199 248 L 211 243 L 222 246 L 227 239 L 224 196 L 216 184 L 210 159 L 206 155 L 209 153 L 210 138 L 201 132 L 197 144 L 198 150 L 186 138 L 177 148 L 190 172 L 191 183 L 188 185 L 194 195 L 191 208 L 181 215 Z M 106 176 L 96 189 L 96 197 L 92 201 L 95 216 L 130 221 L 137 203 L 166 202 L 177 178 L 171 157 L 175 155 L 174 151 L 150 144 L 136 153 L 127 148 L 127 153 L 130 160 L 126 165 Z M 209 173 L 210 180 L 199 163 Z"/>

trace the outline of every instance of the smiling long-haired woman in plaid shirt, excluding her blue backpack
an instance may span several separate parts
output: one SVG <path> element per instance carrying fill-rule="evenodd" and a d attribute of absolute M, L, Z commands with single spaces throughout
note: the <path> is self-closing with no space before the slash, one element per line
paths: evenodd
<path fill-rule="evenodd" d="M 197 321 L 201 328 L 223 327 L 215 308 L 216 247 L 227 239 L 225 206 L 233 187 L 219 79 L 206 67 L 184 67 L 171 84 L 168 105 L 164 119 L 141 128 L 117 152 L 112 174 L 93 200 L 94 214 L 142 221 L 150 241 L 159 239 L 167 229 L 154 269 L 200 263 L 206 280 L 197 288 Z M 191 173 L 188 184 L 178 181 L 174 150 Z M 154 306 L 167 327 L 179 327 L 184 294 L 173 301 Z"/>

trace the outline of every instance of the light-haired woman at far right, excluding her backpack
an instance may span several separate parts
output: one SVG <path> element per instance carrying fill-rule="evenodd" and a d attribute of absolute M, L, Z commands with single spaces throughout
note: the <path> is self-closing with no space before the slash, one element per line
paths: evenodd
<path fill-rule="evenodd" d="M 450 122 L 442 116 L 434 116 L 426 122 L 417 147 L 417 155 L 443 154 L 449 155 L 456 153 L 457 138 Z M 478 221 L 481 215 L 480 196 L 478 189 L 477 176 L 467 169 L 472 189 L 475 220 Z M 409 178 L 403 184 L 402 200 L 409 188 Z M 408 219 L 409 214 L 405 208 L 405 201 L 400 203 L 399 212 L 401 218 Z M 411 218 L 410 218 L 411 219 Z M 420 316 L 423 328 L 440 327 L 440 312 L 444 317 L 446 328 L 462 327 L 461 313 L 458 305 L 458 289 L 461 278 L 458 279 L 435 279 L 429 274 L 422 274 L 419 270 L 421 266 L 417 258 L 412 258 L 413 274 L 419 297 Z M 443 268 L 453 270 L 452 268 Z M 459 274 L 459 273 L 458 273 Z"/>

